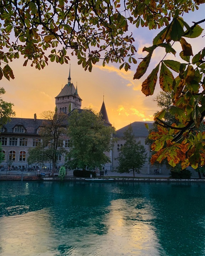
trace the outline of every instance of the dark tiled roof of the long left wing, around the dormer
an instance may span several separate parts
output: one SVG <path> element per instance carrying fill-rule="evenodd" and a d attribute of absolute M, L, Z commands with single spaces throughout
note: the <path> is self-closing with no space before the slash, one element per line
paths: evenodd
<path fill-rule="evenodd" d="M 33 118 L 19 118 L 19 117 L 12 117 L 11 118 L 11 122 L 8 122 L 7 124 L 4 124 L 5 127 L 5 132 L 1 133 L 12 133 L 13 132 L 13 128 L 16 125 L 22 125 L 24 126 L 24 128 L 26 129 L 25 134 L 36 134 L 36 130 L 39 126 L 41 126 L 43 122 L 43 119 L 36 119 L 36 121 L 34 121 Z M 22 134 L 22 133 L 20 133 Z"/>

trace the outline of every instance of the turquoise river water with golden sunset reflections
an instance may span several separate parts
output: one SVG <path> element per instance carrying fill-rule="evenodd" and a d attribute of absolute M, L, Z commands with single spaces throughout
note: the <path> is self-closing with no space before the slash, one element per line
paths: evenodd
<path fill-rule="evenodd" d="M 1 256 L 205 255 L 205 184 L 0 181 Z"/>

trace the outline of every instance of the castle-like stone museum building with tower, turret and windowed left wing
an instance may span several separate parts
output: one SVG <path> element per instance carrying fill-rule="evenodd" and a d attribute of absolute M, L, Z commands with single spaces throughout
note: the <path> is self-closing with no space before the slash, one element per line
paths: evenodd
<path fill-rule="evenodd" d="M 69 71 L 68 83 L 61 89 L 61 92 L 56 99 L 57 113 L 68 114 L 73 109 L 81 109 L 82 99 L 78 95 L 77 86 L 71 82 L 71 74 Z M 112 126 L 108 120 L 104 99 L 100 112 L 104 119 L 105 125 Z M 27 157 L 29 148 L 36 147 L 41 138 L 39 135 L 43 119 L 37 119 L 36 114 L 34 118 L 11 118 L 10 122 L 2 125 L 0 128 L 0 142 L 2 144 L 2 153 L 4 153 L 4 160 L 1 162 L 2 169 L 19 169 L 27 170 L 31 167 L 39 169 L 38 165 L 32 165 L 29 167 L 27 163 Z M 67 150 L 70 148 L 69 138 L 63 140 L 63 147 Z M 111 163 L 103 165 L 103 169 L 112 168 L 112 152 L 107 152 L 111 159 Z M 58 155 L 56 169 L 65 162 L 64 155 Z M 51 163 L 47 163 L 43 166 L 44 169 L 50 170 Z"/>

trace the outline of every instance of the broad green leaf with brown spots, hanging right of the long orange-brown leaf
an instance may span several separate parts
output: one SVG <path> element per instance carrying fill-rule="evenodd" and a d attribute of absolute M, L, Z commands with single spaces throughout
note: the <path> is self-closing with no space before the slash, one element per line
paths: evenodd
<path fill-rule="evenodd" d="M 172 84 L 174 81 L 174 76 L 167 68 L 164 63 L 162 62 L 162 66 L 160 69 L 160 76 L 159 76 L 159 84 L 160 87 L 163 89 L 165 92 L 171 92 L 172 90 Z"/>

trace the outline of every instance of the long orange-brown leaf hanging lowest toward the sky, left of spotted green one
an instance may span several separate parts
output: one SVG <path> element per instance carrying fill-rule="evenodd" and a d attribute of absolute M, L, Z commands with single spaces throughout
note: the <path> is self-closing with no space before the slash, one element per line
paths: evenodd
<path fill-rule="evenodd" d="M 142 92 L 146 95 L 152 95 L 157 83 L 157 74 L 159 72 L 159 64 L 153 69 L 147 79 L 142 83 Z"/>

